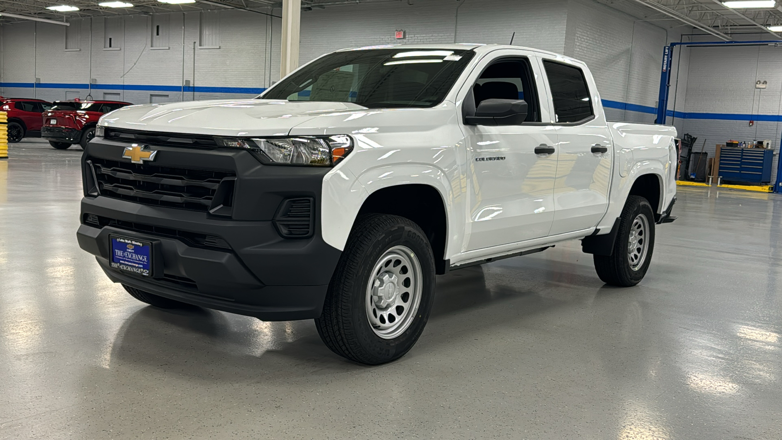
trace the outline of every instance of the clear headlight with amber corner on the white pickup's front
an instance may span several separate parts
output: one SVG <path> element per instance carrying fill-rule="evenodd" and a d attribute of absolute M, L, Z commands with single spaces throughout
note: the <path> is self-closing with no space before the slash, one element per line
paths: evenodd
<path fill-rule="evenodd" d="M 353 150 L 353 139 L 348 135 L 328 138 L 220 139 L 220 142 L 223 146 L 245 148 L 266 164 L 281 165 L 330 167 Z"/>

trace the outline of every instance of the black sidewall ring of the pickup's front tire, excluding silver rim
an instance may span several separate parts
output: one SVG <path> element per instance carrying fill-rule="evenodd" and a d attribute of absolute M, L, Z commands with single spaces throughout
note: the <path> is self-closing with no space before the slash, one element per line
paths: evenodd
<path fill-rule="evenodd" d="M 421 265 L 421 302 L 416 316 L 407 330 L 393 339 L 384 339 L 375 334 L 367 316 L 367 287 L 372 270 L 378 259 L 394 246 L 406 246 L 413 251 Z M 355 336 L 368 356 L 378 359 L 378 362 L 388 362 L 397 359 L 410 350 L 429 319 L 435 290 L 435 265 L 429 240 L 418 229 L 408 225 L 396 225 L 384 231 L 372 240 L 364 252 L 362 263 L 358 268 L 356 282 L 351 287 L 350 306 L 354 311 L 351 319 Z"/>

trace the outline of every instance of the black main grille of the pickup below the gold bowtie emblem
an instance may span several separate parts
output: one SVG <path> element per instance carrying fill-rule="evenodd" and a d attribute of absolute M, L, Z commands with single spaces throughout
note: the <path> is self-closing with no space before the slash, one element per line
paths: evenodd
<path fill-rule="evenodd" d="M 87 162 L 95 170 L 101 196 L 192 211 L 209 211 L 217 187 L 224 179 L 235 176 L 228 171 L 159 167 L 95 157 Z M 222 197 L 231 200 L 233 194 Z M 226 204 L 225 200 L 220 200 L 220 204 Z"/>

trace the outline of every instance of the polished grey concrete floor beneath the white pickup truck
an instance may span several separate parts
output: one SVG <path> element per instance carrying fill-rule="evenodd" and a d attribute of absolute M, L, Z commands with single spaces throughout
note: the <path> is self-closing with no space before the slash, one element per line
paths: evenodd
<path fill-rule="evenodd" d="M 403 359 L 163 312 L 79 250 L 81 149 L 0 162 L 0 438 L 782 438 L 782 197 L 680 189 L 637 287 L 578 243 L 438 280 Z"/>

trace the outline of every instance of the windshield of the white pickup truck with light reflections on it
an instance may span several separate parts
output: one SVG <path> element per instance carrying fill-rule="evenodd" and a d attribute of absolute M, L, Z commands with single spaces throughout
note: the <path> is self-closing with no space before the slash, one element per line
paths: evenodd
<path fill-rule="evenodd" d="M 436 106 L 474 55 L 462 49 L 335 52 L 283 79 L 260 99 L 356 103 L 369 108 Z"/>

